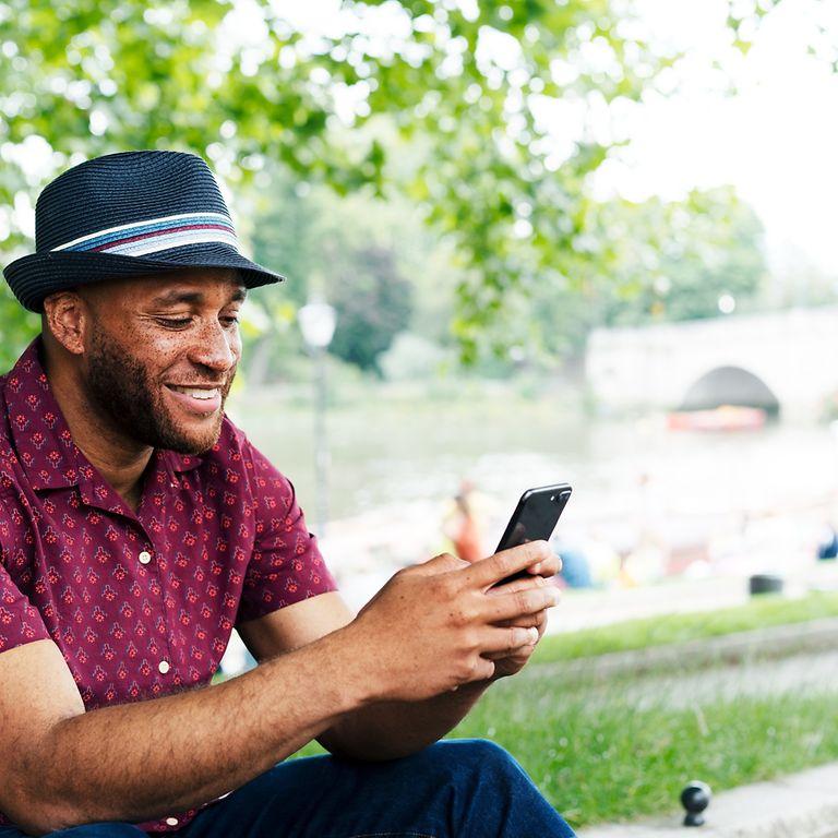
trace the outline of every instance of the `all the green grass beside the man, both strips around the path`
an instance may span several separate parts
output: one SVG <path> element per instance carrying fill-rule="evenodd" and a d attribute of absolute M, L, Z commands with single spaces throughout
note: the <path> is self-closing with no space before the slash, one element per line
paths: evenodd
<path fill-rule="evenodd" d="M 673 698 L 668 691 L 678 678 L 661 689 L 654 675 L 568 682 L 555 667 L 539 672 L 544 662 L 834 614 L 838 594 L 812 594 L 551 636 L 529 675 L 495 684 L 451 737 L 503 745 L 576 827 L 677 810 L 691 779 L 719 791 L 838 759 L 836 694 L 828 686 L 723 699 L 682 691 Z M 737 668 L 705 677 L 727 686 L 746 678 Z M 311 744 L 300 755 L 315 753 L 322 750 Z"/>

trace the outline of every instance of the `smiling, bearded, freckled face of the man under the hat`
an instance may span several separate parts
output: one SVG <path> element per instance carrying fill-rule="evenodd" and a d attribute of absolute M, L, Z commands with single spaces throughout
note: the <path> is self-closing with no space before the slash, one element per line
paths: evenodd
<path fill-rule="evenodd" d="M 91 406 L 128 440 L 182 454 L 211 448 L 241 356 L 244 288 L 235 272 L 190 270 L 80 294 L 91 313 Z"/>

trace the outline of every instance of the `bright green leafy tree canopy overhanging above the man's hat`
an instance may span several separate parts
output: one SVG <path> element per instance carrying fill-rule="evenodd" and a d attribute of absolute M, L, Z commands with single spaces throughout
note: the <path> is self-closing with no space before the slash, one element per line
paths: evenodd
<path fill-rule="evenodd" d="M 397 180 L 469 270 L 456 331 L 474 356 L 506 292 L 526 285 L 522 265 L 548 267 L 596 235 L 584 183 L 609 143 L 583 118 L 560 152 L 552 115 L 637 98 L 669 57 L 610 0 L 348 1 L 319 31 L 295 9 L 0 1 L 5 260 L 32 247 L 21 205 L 59 169 L 108 152 L 194 151 L 239 193 L 266 161 L 343 193 Z M 400 144 L 385 149 L 380 118 Z M 420 153 L 396 179 L 386 152 L 407 145 Z M 250 232 L 247 218 L 239 226 Z M 1 324 L 7 360 L 20 322 Z"/>

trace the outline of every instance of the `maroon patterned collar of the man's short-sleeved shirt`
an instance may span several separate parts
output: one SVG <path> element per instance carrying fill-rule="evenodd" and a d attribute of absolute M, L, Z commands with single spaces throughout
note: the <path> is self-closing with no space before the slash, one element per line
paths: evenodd
<path fill-rule="evenodd" d="M 40 338 L 26 348 L 2 382 L 7 417 L 17 458 L 35 491 L 77 486 L 96 496 L 101 477 L 73 442 L 70 428 L 49 386 L 40 362 Z M 172 478 L 197 468 L 202 457 L 160 450 Z"/>

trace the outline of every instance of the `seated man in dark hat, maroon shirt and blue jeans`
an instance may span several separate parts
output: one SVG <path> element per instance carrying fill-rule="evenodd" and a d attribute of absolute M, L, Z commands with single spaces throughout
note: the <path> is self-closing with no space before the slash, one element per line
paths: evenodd
<path fill-rule="evenodd" d="M 352 616 L 223 412 L 279 277 L 203 160 L 70 169 L 4 274 L 43 333 L 0 379 L 0 837 L 572 835 L 500 749 L 433 744 L 530 656 L 556 559 L 440 555 Z M 260 666 L 208 686 L 234 626 Z"/>

